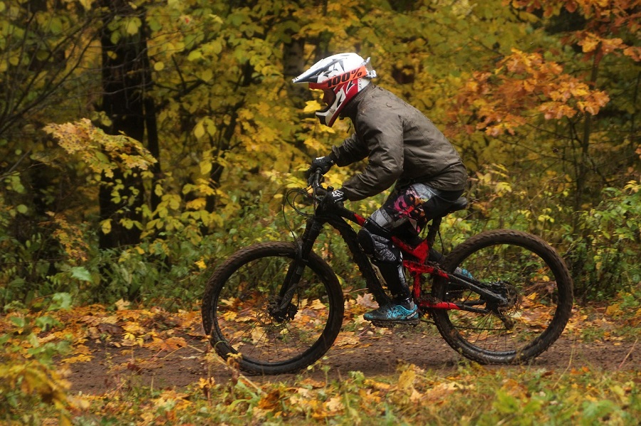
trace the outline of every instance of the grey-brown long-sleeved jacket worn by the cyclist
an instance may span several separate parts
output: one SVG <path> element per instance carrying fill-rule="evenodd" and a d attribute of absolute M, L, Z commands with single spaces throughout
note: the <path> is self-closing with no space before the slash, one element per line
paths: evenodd
<path fill-rule="evenodd" d="M 343 183 L 348 200 L 362 200 L 398 185 L 426 183 L 460 191 L 467 171 L 457 151 L 432 121 L 382 87 L 368 85 L 343 110 L 355 133 L 330 154 L 338 166 L 368 157 L 362 174 Z"/>

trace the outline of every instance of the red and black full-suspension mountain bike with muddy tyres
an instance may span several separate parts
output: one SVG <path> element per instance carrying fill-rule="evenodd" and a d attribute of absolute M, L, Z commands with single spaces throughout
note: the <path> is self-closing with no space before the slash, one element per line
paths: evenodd
<path fill-rule="evenodd" d="M 295 208 L 306 216 L 301 238 L 242 248 L 207 282 L 204 330 L 220 356 L 237 356 L 248 373 L 298 371 L 338 336 L 343 291 L 332 267 L 313 251 L 326 225 L 345 240 L 376 302 L 391 302 L 350 225 L 363 225 L 365 218 L 331 202 L 326 194 L 333 188 L 323 188 L 320 178 L 316 174 L 311 193 L 309 187 L 293 192 L 313 205 L 313 213 Z M 459 198 L 446 215 L 466 207 Z M 546 351 L 572 310 L 573 282 L 563 259 L 541 238 L 501 229 L 479 233 L 435 260 L 430 249 L 443 217 L 432 220 L 425 238 L 393 240 L 403 252 L 421 321 L 431 318 L 449 346 L 479 363 L 524 363 Z"/>

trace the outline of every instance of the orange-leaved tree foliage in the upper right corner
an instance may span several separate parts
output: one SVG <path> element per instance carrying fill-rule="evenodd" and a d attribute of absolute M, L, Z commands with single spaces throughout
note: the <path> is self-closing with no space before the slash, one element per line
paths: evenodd
<path fill-rule="evenodd" d="M 451 117 L 470 137 L 482 131 L 501 150 L 553 165 L 580 210 L 638 165 L 641 11 L 626 0 L 504 5 L 528 21 L 532 42 L 474 71 Z"/>

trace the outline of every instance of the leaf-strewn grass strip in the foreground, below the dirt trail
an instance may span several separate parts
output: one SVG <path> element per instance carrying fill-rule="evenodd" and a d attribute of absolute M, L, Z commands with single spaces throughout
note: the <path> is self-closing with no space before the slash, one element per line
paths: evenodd
<path fill-rule="evenodd" d="M 322 368 L 322 367 L 321 367 Z M 411 364 L 393 376 L 148 387 L 93 397 L 77 425 L 636 425 L 641 372 L 484 368 L 443 377 Z"/>

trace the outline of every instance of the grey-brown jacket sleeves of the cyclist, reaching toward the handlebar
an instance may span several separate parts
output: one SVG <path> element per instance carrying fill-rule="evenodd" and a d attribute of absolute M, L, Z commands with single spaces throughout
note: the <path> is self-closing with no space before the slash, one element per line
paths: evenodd
<path fill-rule="evenodd" d="M 403 170 L 403 128 L 400 117 L 390 115 L 385 107 L 368 108 L 359 115 L 355 127 L 358 134 L 345 139 L 343 145 L 338 147 L 339 155 L 336 161 L 339 166 L 350 164 L 343 163 L 343 152 L 352 154 L 350 158 L 363 154 L 365 155 L 359 159 L 368 156 L 365 171 L 343 183 L 343 192 L 350 201 L 362 200 L 385 191 L 392 186 Z"/>

